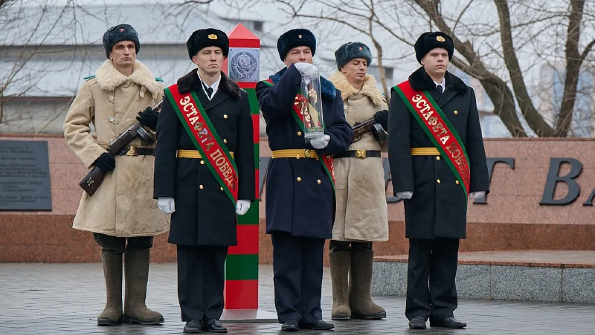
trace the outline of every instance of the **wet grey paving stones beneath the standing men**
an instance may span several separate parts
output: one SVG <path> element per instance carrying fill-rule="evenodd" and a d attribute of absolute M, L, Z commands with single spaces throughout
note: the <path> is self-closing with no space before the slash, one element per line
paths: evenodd
<path fill-rule="evenodd" d="M 260 308 L 274 312 L 272 267 L 260 267 Z M 0 264 L 0 335 L 170 335 L 183 334 L 177 301 L 176 265 L 152 263 L 147 306 L 164 314 L 158 326 L 99 327 L 96 317 L 105 303 L 101 264 Z M 334 321 L 332 331 L 297 334 L 365 335 L 587 335 L 595 334 L 595 305 L 497 300 L 460 300 L 455 311 L 469 324 L 464 330 L 409 330 L 403 297 L 375 297 L 388 318 L 380 321 Z M 330 321 L 330 276 L 325 268 L 323 316 Z M 287 334 L 277 323 L 227 324 L 230 334 Z"/>

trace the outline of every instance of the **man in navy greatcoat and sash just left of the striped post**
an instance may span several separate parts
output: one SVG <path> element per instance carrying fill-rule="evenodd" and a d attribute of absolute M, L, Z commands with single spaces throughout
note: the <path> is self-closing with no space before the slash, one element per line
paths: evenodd
<path fill-rule="evenodd" d="M 184 333 L 227 333 L 219 321 L 225 260 L 228 247 L 237 245 L 236 215 L 248 212 L 255 199 L 252 115 L 248 94 L 221 72 L 229 52 L 226 33 L 196 30 L 186 45 L 197 69 L 165 89 L 154 197 L 159 209 L 171 213 L 168 242 L 177 245 Z M 231 201 L 232 190 L 237 201 Z"/>

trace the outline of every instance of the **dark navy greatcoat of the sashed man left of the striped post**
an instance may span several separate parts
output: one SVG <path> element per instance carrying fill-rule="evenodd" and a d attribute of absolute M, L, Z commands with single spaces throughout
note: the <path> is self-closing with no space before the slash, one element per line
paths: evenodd
<path fill-rule="evenodd" d="M 248 94 L 223 72 L 209 101 L 196 70 L 178 80 L 181 94 L 194 91 L 227 150 L 234 153 L 238 200 L 255 198 L 253 126 Z M 235 246 L 236 206 L 201 159 L 176 158 L 178 149 L 196 150 L 170 100 L 164 97 L 157 122 L 154 198 L 173 197 L 169 243 L 184 246 Z M 202 185 L 202 188 L 201 188 Z M 252 204 L 252 206 L 254 206 Z"/>

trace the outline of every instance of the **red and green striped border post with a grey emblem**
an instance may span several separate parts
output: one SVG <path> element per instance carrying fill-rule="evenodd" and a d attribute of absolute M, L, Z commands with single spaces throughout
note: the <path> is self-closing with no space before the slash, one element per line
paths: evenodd
<path fill-rule="evenodd" d="M 229 61 L 235 54 L 234 49 L 258 49 L 260 52 L 261 42 L 250 30 L 242 24 L 237 24 L 230 33 L 228 33 L 230 58 L 223 64 L 223 72 L 231 79 Z M 258 68 L 260 67 L 260 57 L 256 59 Z M 257 68 L 257 72 L 258 72 Z M 258 72 L 259 73 L 259 72 Z M 254 128 L 254 159 L 255 166 L 255 202 L 252 203 L 248 213 L 237 216 L 237 246 L 229 248 L 226 260 L 226 281 L 225 281 L 225 309 L 258 309 L 258 175 L 259 175 L 259 142 L 260 142 L 260 111 L 258 100 L 256 99 L 256 83 L 243 82 L 236 80 L 240 88 L 248 92 L 250 101 L 250 110 L 252 111 L 252 123 Z M 256 313 L 254 313 L 256 315 Z M 225 313 L 224 313 L 225 316 Z M 245 317 L 243 317 L 245 318 Z M 249 317 L 253 318 L 253 317 Z M 224 318 L 222 318 L 224 319 Z M 229 318 L 226 318 L 229 319 Z M 237 319 L 237 318 L 233 318 Z M 250 321 L 250 320 L 242 320 Z"/>

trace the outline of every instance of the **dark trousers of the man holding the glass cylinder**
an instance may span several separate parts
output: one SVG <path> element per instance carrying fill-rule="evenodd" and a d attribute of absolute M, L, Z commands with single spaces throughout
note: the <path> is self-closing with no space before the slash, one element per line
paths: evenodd
<path fill-rule="evenodd" d="M 273 283 L 279 323 L 322 320 L 322 238 L 273 232 Z"/>

